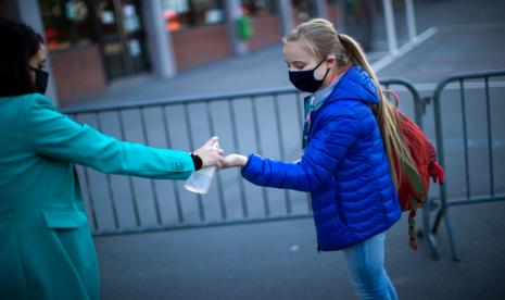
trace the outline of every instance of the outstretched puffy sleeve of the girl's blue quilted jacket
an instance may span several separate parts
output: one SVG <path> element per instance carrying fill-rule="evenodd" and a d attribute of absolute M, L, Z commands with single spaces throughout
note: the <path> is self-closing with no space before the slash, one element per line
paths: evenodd
<path fill-rule="evenodd" d="M 251 154 L 242 176 L 265 187 L 317 190 L 358 137 L 358 121 L 353 112 L 327 116 L 300 161 L 286 163 Z"/>

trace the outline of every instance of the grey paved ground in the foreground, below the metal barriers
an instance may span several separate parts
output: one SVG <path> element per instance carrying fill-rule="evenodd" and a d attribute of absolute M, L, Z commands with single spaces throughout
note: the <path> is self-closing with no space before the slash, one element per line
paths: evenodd
<path fill-rule="evenodd" d="M 463 261 L 441 261 L 421 240 L 407 246 L 406 220 L 387 239 L 387 268 L 400 299 L 505 297 L 505 203 L 452 212 Z M 444 228 L 442 228 L 444 229 Z M 317 253 L 312 220 L 96 238 L 103 299 L 355 299 L 340 252 Z"/>

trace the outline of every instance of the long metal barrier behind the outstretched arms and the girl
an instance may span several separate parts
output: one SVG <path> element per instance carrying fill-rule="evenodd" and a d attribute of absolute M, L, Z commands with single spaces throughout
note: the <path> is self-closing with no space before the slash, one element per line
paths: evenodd
<path fill-rule="evenodd" d="M 402 110 L 420 124 L 424 103 L 404 79 L 382 80 L 394 87 Z M 406 101 L 404 101 L 406 100 Z M 211 97 L 153 100 L 66 110 L 81 123 L 121 140 L 159 148 L 193 150 L 213 134 L 227 152 L 256 152 L 294 161 L 302 154 L 302 95 L 268 89 Z M 218 172 L 204 197 L 182 183 L 101 174 L 78 167 L 96 236 L 263 222 L 312 214 L 306 193 L 256 187 L 239 171 Z"/>

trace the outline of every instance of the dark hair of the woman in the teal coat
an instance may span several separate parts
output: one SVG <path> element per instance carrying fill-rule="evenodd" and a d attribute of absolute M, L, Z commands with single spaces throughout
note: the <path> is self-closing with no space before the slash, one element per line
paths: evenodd
<path fill-rule="evenodd" d="M 28 61 L 42 37 L 25 24 L 0 17 L 0 97 L 35 92 Z"/>

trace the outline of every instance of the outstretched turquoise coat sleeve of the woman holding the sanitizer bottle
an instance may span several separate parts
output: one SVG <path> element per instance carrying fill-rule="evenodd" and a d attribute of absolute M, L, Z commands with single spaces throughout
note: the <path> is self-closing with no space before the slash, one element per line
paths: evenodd
<path fill-rule="evenodd" d="M 119 141 L 56 111 L 37 95 L 24 104 L 25 133 L 34 151 L 103 173 L 186 179 L 194 171 L 188 152 Z"/>

